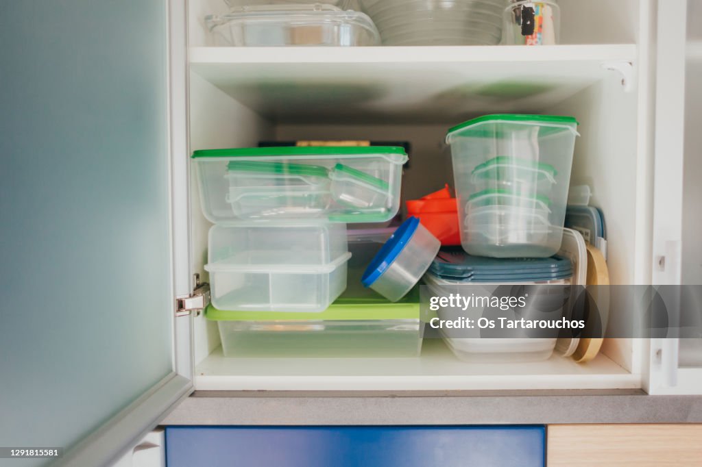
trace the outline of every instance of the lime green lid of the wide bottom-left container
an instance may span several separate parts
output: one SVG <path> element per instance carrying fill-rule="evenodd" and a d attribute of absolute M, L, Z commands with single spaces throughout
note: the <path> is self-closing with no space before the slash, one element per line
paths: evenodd
<path fill-rule="evenodd" d="M 383 297 L 339 297 L 322 313 L 284 313 L 277 311 L 222 311 L 209 304 L 205 316 L 213 321 L 294 321 L 294 320 L 404 320 L 419 318 L 419 288 L 415 287 L 399 302 Z"/>

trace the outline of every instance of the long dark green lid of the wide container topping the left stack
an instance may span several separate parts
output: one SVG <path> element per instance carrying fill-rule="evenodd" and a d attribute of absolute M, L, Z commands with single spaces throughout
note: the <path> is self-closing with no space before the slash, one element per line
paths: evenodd
<path fill-rule="evenodd" d="M 270 157 L 270 156 L 369 156 L 385 154 L 400 156 L 404 163 L 407 153 L 395 146 L 279 146 L 245 147 L 235 149 L 204 149 L 194 151 L 192 158 L 205 157 Z"/>

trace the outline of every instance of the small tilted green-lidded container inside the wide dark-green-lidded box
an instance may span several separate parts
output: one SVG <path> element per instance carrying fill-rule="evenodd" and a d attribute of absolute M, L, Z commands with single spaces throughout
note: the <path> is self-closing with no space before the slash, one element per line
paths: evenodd
<path fill-rule="evenodd" d="M 370 210 L 390 209 L 390 187 L 385 180 L 343 164 L 336 164 L 329 177 L 331 196 L 337 203 Z"/>

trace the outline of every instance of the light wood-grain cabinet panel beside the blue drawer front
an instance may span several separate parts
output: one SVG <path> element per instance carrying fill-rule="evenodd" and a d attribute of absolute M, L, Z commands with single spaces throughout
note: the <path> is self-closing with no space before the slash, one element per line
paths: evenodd
<path fill-rule="evenodd" d="M 548 467 L 702 466 L 702 425 L 550 425 Z"/>

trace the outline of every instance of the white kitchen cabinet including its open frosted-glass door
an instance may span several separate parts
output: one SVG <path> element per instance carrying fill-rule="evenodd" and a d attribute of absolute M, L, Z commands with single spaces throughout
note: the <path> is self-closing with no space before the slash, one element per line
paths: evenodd
<path fill-rule="evenodd" d="M 701 393 L 670 339 L 610 339 L 585 365 L 466 364 L 439 341 L 411 360 L 230 359 L 204 316 L 176 313 L 207 279 L 192 150 L 410 140 L 417 197 L 451 180 L 446 128 L 496 112 L 576 116 L 572 181 L 604 212 L 611 283 L 680 283 L 686 2 L 562 0 L 559 46 L 284 49 L 211 47 L 220 0 L 78 3 L 0 7 L 0 403 L 7 426 L 45 420 L 65 463 L 116 459 L 193 389 Z M 128 35 L 107 27 L 120 15 Z"/>

